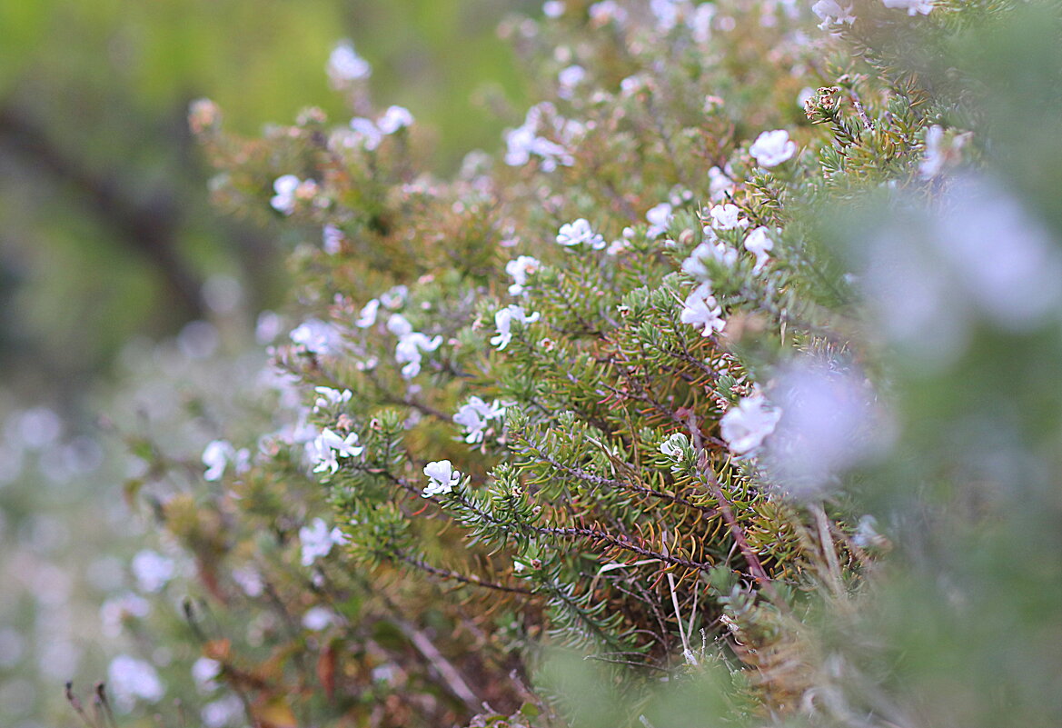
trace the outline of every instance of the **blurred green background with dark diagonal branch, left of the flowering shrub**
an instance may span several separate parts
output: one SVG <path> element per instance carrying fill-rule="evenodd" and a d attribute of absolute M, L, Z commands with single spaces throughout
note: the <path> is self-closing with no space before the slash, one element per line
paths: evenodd
<path fill-rule="evenodd" d="M 349 39 L 445 172 L 500 146 L 499 104 L 523 115 L 497 33 L 516 12 L 541 3 L 0 2 L 0 725 L 74 725 L 63 683 L 104 679 L 122 616 L 147 608 L 129 591 L 152 571 L 131 569 L 136 473 L 107 419 L 186 375 L 220 386 L 209 362 L 253 348 L 287 294 L 277 231 L 210 208 L 189 103 L 249 136 L 308 105 L 342 122 L 325 68 Z"/>

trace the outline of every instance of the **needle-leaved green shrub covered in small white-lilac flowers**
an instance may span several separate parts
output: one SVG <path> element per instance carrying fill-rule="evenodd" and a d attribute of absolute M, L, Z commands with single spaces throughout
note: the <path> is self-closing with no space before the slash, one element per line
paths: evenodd
<path fill-rule="evenodd" d="M 984 153 L 976 85 L 931 56 L 1014 11 L 547 5 L 508 27 L 545 100 L 448 181 L 405 109 L 261 140 L 193 111 L 218 203 L 306 235 L 273 422 L 158 506 L 210 679 L 259 725 L 917 725 L 812 624 L 869 608 L 866 484 L 928 446 L 905 366 L 962 360 L 954 301 L 1057 324 L 1049 233 L 955 172 Z"/>

